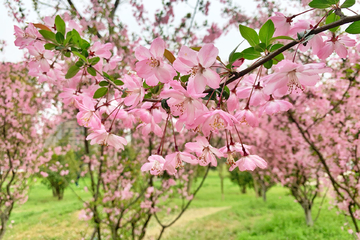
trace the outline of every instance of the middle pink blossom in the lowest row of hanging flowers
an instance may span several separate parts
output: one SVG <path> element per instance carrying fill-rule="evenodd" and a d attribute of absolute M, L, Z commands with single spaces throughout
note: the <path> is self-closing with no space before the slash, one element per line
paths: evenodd
<path fill-rule="evenodd" d="M 196 138 L 196 142 L 188 142 L 185 147 L 192 152 L 195 152 L 199 158 L 199 165 L 206 166 L 211 163 L 211 166 L 216 167 L 216 157 L 222 157 L 223 154 L 216 148 L 210 145 L 209 141 L 202 136 Z"/>

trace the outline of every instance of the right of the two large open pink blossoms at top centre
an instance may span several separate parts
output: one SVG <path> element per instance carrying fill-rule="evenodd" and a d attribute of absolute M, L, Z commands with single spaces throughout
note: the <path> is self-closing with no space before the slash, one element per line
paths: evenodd
<path fill-rule="evenodd" d="M 174 68 L 181 74 L 190 74 L 188 88 L 202 93 L 206 85 L 219 88 L 220 76 L 210 67 L 215 63 L 219 50 L 213 44 L 205 44 L 199 52 L 182 46 Z"/>

